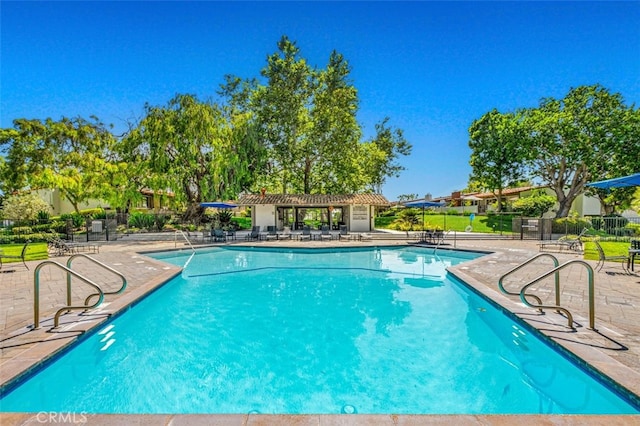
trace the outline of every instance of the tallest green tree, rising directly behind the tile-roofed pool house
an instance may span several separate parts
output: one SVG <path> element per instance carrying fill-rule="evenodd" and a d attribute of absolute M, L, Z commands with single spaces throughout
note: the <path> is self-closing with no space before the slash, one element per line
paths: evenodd
<path fill-rule="evenodd" d="M 226 76 L 221 94 L 230 111 L 248 119 L 264 141 L 269 161 L 258 181 L 282 193 L 380 191 L 387 177 L 404 170 L 399 157 L 411 152 L 401 129 L 386 118 L 363 142 L 356 115 L 357 90 L 351 68 L 338 52 L 327 66 L 311 67 L 286 36 L 256 80 Z"/>

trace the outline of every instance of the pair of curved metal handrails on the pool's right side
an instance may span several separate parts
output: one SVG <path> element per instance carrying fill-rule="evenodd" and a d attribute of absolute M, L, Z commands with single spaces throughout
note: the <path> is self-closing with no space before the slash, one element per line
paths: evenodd
<path fill-rule="evenodd" d="M 553 265 L 554 267 L 552 269 L 550 269 L 549 271 L 543 273 L 542 275 L 534 278 L 533 280 L 529 281 L 528 283 L 526 283 L 525 285 L 522 286 L 522 288 L 520 288 L 520 291 L 518 292 L 512 292 L 512 291 L 508 291 L 507 289 L 504 288 L 504 279 L 513 274 L 516 271 L 519 271 L 520 269 L 524 268 L 525 266 L 529 265 L 530 263 L 532 263 L 533 261 L 541 258 L 541 257 L 549 257 L 553 260 Z M 588 284 L 589 284 L 589 328 L 592 330 L 595 330 L 595 302 L 594 302 L 594 285 L 593 285 L 593 268 L 591 267 L 591 265 L 589 265 L 587 262 L 583 261 L 583 260 L 578 260 L 578 259 L 573 259 L 573 260 L 569 260 L 568 262 L 563 263 L 562 265 L 560 264 L 560 262 L 558 261 L 558 259 L 550 254 L 550 253 L 539 253 L 535 256 L 533 256 L 532 258 L 524 261 L 523 263 L 521 263 L 520 265 L 516 266 L 515 268 L 509 270 L 508 272 L 504 273 L 500 279 L 498 280 L 498 288 L 500 289 L 500 291 L 504 294 L 508 294 L 511 296 L 519 296 L 520 300 L 522 301 L 522 303 L 525 304 L 525 306 L 528 306 L 530 308 L 535 308 L 538 309 L 541 313 L 543 312 L 544 309 L 553 309 L 556 312 L 560 313 L 564 313 L 567 317 L 567 321 L 568 321 L 568 326 L 571 329 L 575 329 L 575 327 L 573 326 L 573 315 L 571 314 L 571 312 L 563 307 L 560 303 L 560 271 L 563 270 L 564 268 L 574 265 L 574 264 L 578 264 L 578 265 L 583 265 L 586 269 L 587 269 L 587 279 L 588 279 Z M 536 284 L 539 281 L 542 281 L 543 279 L 554 275 L 554 281 L 555 281 L 555 305 L 545 305 L 542 303 L 542 300 L 536 296 L 535 294 L 531 294 L 531 293 L 527 293 L 527 290 L 529 289 L 529 287 L 531 287 L 532 285 Z M 537 304 L 533 304 L 531 302 L 529 302 L 527 300 L 527 297 L 534 299 L 536 301 Z"/>

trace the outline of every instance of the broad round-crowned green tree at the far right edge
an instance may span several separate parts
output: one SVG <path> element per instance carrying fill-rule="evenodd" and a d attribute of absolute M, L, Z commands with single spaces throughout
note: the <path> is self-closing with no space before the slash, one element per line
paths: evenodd
<path fill-rule="evenodd" d="M 526 112 L 533 174 L 555 192 L 556 217 L 566 217 L 585 184 L 640 164 L 637 112 L 600 85 L 571 89 Z"/>

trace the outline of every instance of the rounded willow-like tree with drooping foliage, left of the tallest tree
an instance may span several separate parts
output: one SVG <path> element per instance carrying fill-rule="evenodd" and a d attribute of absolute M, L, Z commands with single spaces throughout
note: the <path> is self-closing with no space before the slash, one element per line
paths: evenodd
<path fill-rule="evenodd" d="M 200 202 L 235 198 L 253 183 L 262 153 L 242 116 L 229 122 L 219 107 L 192 95 L 145 109 L 121 151 L 139 176 L 137 186 L 170 189 L 193 217 L 202 212 Z"/>

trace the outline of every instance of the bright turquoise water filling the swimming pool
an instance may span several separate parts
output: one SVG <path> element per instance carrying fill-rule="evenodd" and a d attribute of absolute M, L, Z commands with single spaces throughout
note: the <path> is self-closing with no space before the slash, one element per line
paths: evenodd
<path fill-rule="evenodd" d="M 638 413 L 416 247 L 199 252 L 0 400 L 90 413 Z M 184 265 L 185 253 L 154 257 Z"/>

